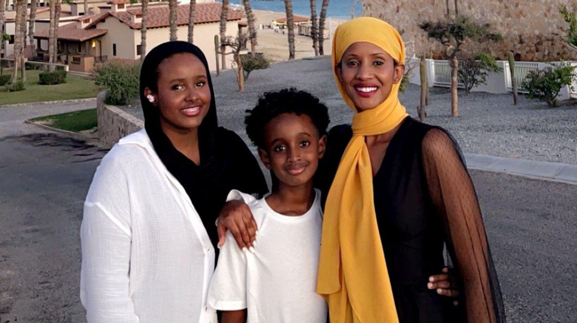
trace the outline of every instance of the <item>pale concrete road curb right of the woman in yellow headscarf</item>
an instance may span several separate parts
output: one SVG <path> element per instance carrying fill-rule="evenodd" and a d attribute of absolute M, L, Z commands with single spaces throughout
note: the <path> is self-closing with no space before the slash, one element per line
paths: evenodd
<path fill-rule="evenodd" d="M 467 168 L 577 185 L 577 165 L 464 154 Z"/>

